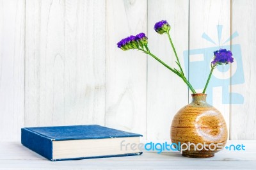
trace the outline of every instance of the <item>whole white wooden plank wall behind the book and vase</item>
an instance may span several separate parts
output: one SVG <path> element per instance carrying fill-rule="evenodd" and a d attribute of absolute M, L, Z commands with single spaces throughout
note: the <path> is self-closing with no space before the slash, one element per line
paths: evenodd
<path fill-rule="evenodd" d="M 169 139 L 188 88 L 154 59 L 116 47 L 144 32 L 150 50 L 174 66 L 168 38 L 153 29 L 161 19 L 183 66 L 185 50 L 212 46 L 202 33 L 218 40 L 216 25 L 221 37 L 239 33 L 225 45 L 241 45 L 245 80 L 228 89 L 244 104 L 222 104 L 221 87 L 213 104 L 230 139 L 256 139 L 255 10 L 253 0 L 0 0 L 0 141 L 19 140 L 24 126 L 81 124 Z"/>

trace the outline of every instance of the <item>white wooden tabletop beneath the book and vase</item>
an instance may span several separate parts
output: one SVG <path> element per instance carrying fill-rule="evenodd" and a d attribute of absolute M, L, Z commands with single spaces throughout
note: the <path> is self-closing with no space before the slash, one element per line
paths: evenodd
<path fill-rule="evenodd" d="M 245 151 L 222 150 L 212 158 L 186 158 L 179 152 L 144 152 L 140 156 L 51 162 L 19 142 L 0 143 L 0 169 L 256 169 L 256 141 Z"/>

